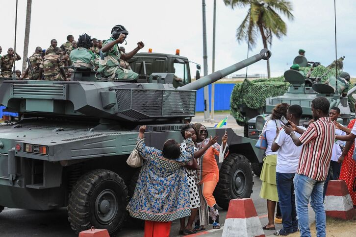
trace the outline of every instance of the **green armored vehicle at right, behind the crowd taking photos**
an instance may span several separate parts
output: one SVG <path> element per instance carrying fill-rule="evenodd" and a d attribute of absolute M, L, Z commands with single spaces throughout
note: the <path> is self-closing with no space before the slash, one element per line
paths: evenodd
<path fill-rule="evenodd" d="M 347 125 L 350 118 L 352 118 L 348 102 L 349 98 L 347 96 L 341 97 L 340 94 L 335 94 L 334 89 L 331 86 L 324 83 L 310 84 L 309 78 L 305 79 L 299 71 L 294 70 L 285 71 L 284 78 L 290 84 L 288 91 L 284 95 L 269 97 L 266 99 L 266 113 L 248 120 L 247 126 L 245 127 L 245 137 L 258 139 L 264 122 L 269 119 L 273 108 L 279 103 L 300 105 L 303 109 L 300 124 L 306 127 L 308 121 L 312 119 L 310 103 L 317 96 L 327 97 L 330 101 L 330 108 L 336 106 L 340 109 L 341 118 L 338 119 L 340 123 Z M 352 91 L 350 91 L 350 93 L 352 93 Z M 258 160 L 260 161 L 261 157 Z M 261 173 L 262 163 L 251 163 L 251 166 L 254 174 L 259 176 Z"/>

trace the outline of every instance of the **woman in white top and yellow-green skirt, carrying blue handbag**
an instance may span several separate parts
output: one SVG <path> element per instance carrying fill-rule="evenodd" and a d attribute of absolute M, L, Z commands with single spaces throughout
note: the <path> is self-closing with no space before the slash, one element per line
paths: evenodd
<path fill-rule="evenodd" d="M 277 152 L 271 150 L 272 143 L 277 136 L 277 129 L 280 129 L 282 123 L 280 118 L 286 117 L 287 109 L 289 105 L 287 103 L 277 104 L 272 111 L 271 119 L 267 121 L 264 132 L 266 133 L 267 149 L 266 157 L 263 159 L 263 166 L 260 175 L 262 180 L 262 187 L 259 193 L 261 198 L 267 199 L 267 213 L 268 224 L 263 227 L 264 230 L 275 230 L 275 208 L 278 202 L 278 192 L 276 183 L 276 165 L 277 165 Z"/>

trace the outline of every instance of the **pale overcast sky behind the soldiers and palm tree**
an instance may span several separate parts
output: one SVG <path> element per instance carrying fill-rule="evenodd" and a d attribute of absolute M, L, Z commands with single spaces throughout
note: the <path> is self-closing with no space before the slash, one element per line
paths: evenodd
<path fill-rule="evenodd" d="M 236 41 L 236 29 L 247 14 L 247 8 L 231 9 L 223 0 L 216 1 L 215 71 L 224 69 L 247 57 L 247 43 Z M 294 21 L 288 21 L 287 35 L 273 38 L 271 75 L 280 76 L 305 49 L 308 61 L 328 66 L 335 59 L 333 0 L 291 0 Z M 0 0 L 1 55 L 14 47 L 16 0 Z M 356 4 L 354 0 L 336 0 L 337 57 L 345 56 L 344 71 L 356 77 Z M 18 0 L 17 46 L 22 56 L 25 35 L 26 0 Z M 180 55 L 202 65 L 203 74 L 203 20 L 201 0 L 32 0 L 32 17 L 28 56 L 35 47 L 48 48 L 51 39 L 58 46 L 72 34 L 75 39 L 82 33 L 92 38 L 108 39 L 111 28 L 124 25 L 129 34 L 126 51 L 143 41 L 142 52 Z M 213 0 L 206 0 L 208 72 L 212 71 Z M 250 56 L 263 48 L 260 37 Z M 19 62 L 19 63 L 18 63 Z M 22 68 L 22 61 L 16 64 Z M 245 73 L 245 69 L 236 74 Z M 267 74 L 265 61 L 248 68 L 249 74 Z M 193 74 L 194 75 L 194 74 Z"/>

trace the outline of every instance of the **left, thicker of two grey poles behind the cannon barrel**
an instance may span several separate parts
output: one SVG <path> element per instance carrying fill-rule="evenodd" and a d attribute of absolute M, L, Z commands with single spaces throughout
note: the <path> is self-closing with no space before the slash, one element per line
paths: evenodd
<path fill-rule="evenodd" d="M 205 0 L 202 0 L 203 5 L 203 63 L 204 63 L 204 76 L 207 75 L 207 50 L 206 50 L 206 17 L 205 17 Z M 209 112 L 209 87 L 204 87 L 204 121 L 210 120 Z"/>

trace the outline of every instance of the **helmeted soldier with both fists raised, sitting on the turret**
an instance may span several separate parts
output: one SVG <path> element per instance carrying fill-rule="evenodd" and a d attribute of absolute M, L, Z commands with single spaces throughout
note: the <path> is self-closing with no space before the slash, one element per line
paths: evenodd
<path fill-rule="evenodd" d="M 129 60 L 138 50 L 145 45 L 142 41 L 137 43 L 137 47 L 127 54 L 121 54 L 117 44 L 122 44 L 128 35 L 128 31 L 122 25 L 115 25 L 111 29 L 111 38 L 102 45 L 99 59 L 99 70 L 102 77 L 109 80 L 115 79 L 136 79 L 138 74 L 131 70 L 120 67 L 120 58 Z"/>

